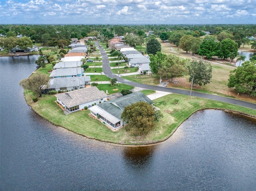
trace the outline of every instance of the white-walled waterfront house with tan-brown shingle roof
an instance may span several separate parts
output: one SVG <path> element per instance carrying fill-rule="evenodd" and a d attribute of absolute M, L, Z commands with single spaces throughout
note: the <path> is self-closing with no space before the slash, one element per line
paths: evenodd
<path fill-rule="evenodd" d="M 55 95 L 59 102 L 68 112 L 75 112 L 84 109 L 85 106 L 90 107 L 92 104 L 99 104 L 107 99 L 104 91 L 100 91 L 97 87 L 89 87 Z"/>

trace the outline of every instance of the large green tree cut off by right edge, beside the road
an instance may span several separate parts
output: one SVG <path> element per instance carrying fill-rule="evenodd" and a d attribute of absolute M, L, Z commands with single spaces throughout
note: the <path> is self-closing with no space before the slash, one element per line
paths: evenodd
<path fill-rule="evenodd" d="M 233 71 L 230 71 L 228 87 L 234 87 L 238 93 L 256 96 L 256 61 L 245 61 Z"/>

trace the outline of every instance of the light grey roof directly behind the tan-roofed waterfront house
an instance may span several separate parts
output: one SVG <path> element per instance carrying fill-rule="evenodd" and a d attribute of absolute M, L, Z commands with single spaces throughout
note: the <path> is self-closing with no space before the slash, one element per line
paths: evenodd
<path fill-rule="evenodd" d="M 91 81 L 90 76 L 70 77 L 70 78 L 54 78 L 49 80 L 51 88 L 77 87 L 84 85 L 86 81 Z"/>

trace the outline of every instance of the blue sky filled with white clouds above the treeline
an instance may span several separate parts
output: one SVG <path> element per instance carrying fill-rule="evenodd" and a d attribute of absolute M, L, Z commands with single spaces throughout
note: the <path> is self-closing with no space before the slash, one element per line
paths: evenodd
<path fill-rule="evenodd" d="M 256 0 L 0 0 L 0 24 L 256 24 Z"/>

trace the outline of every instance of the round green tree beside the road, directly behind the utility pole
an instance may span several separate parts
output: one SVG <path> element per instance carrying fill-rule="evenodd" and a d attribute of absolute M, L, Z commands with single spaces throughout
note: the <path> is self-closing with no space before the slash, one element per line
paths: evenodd
<path fill-rule="evenodd" d="M 188 73 L 190 75 L 189 82 L 192 82 L 194 76 L 193 84 L 206 85 L 212 79 L 212 65 L 202 60 L 192 59 L 190 65 L 188 65 Z"/>

